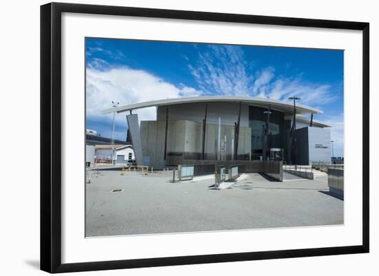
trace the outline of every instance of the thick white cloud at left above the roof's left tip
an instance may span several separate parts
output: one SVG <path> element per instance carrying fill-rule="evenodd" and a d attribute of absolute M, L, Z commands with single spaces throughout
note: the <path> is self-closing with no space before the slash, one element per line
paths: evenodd
<path fill-rule="evenodd" d="M 176 87 L 143 70 L 118 67 L 106 71 L 87 68 L 86 108 L 87 116 L 96 120 L 112 120 L 112 114 L 103 115 L 101 110 L 112 107 L 112 100 L 120 105 L 140 103 L 163 98 L 195 96 L 196 89 L 181 85 Z M 155 107 L 139 109 L 139 120 L 155 120 Z M 125 122 L 125 113 L 116 114 L 116 120 Z"/>

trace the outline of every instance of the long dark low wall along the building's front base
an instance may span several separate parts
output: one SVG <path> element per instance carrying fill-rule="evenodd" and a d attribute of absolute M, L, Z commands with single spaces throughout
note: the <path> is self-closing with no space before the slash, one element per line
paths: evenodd
<path fill-rule="evenodd" d="M 195 176 L 202 176 L 214 173 L 216 167 L 225 166 L 227 170 L 230 166 L 239 165 L 240 173 L 265 173 L 278 181 L 283 181 L 282 161 L 258 161 L 258 160 L 184 160 L 183 164 L 195 166 Z"/>

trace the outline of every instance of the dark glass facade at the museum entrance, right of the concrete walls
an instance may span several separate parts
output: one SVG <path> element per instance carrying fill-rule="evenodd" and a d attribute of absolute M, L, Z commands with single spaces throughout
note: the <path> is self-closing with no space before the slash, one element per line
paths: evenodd
<path fill-rule="evenodd" d="M 263 158 L 265 147 L 265 127 L 267 121 L 266 108 L 249 107 L 249 127 L 252 128 L 252 160 Z M 270 148 L 283 149 L 282 132 L 280 131 L 284 120 L 284 114 L 275 110 L 271 111 L 267 134 L 267 150 Z"/>

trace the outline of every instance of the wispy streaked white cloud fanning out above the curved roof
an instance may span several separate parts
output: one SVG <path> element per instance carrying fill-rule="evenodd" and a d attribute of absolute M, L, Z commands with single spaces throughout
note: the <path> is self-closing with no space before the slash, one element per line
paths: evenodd
<path fill-rule="evenodd" d="M 289 65 L 290 66 L 290 65 Z M 274 67 L 254 70 L 241 47 L 214 46 L 198 50 L 198 61 L 188 65 L 202 94 L 258 96 L 287 100 L 299 96 L 305 105 L 325 105 L 336 100 L 331 85 L 309 83 L 301 75 L 276 76 Z"/>

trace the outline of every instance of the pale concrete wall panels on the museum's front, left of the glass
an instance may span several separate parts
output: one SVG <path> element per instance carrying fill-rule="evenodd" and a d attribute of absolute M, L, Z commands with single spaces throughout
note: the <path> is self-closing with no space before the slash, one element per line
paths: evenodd
<path fill-rule="evenodd" d="M 221 121 L 223 123 L 223 121 Z M 183 160 L 203 158 L 203 123 L 189 120 L 169 121 L 167 128 L 167 156 L 165 156 L 165 121 L 141 122 L 141 145 L 144 164 L 156 169 L 166 165 L 183 164 Z M 240 127 L 238 158 L 249 160 L 252 131 Z M 221 159 L 232 160 L 234 126 L 221 125 Z M 218 158 L 218 125 L 207 124 L 205 131 L 205 159 Z"/>

